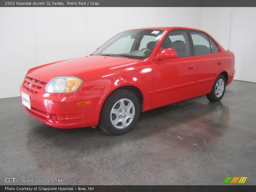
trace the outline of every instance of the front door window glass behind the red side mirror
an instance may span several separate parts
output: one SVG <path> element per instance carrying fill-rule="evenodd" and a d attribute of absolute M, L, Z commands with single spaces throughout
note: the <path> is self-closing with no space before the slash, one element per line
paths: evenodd
<path fill-rule="evenodd" d="M 175 49 L 178 57 L 190 56 L 190 50 L 188 45 L 188 34 L 186 31 L 171 31 L 165 37 L 162 45 L 162 49 L 171 48 Z"/>

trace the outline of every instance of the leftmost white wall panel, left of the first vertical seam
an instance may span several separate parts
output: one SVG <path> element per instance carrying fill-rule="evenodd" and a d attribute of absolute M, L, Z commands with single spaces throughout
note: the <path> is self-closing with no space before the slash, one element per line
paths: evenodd
<path fill-rule="evenodd" d="M 14 97 L 28 68 L 37 65 L 33 10 L 1 7 L 0 29 L 0 98 Z"/>

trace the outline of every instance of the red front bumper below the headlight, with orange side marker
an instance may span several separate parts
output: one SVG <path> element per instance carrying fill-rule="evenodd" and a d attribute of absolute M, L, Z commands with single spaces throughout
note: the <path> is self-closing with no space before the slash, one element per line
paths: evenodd
<path fill-rule="evenodd" d="M 20 92 L 30 96 L 31 109 L 23 106 L 25 110 L 49 126 L 68 129 L 98 124 L 100 94 L 51 94 L 43 89 L 33 94 L 22 85 Z"/>

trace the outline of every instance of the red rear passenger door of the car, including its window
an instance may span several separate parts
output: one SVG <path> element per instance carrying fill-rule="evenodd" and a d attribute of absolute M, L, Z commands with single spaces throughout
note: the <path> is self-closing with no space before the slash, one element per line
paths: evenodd
<path fill-rule="evenodd" d="M 197 66 L 195 94 L 209 92 L 220 73 L 222 56 L 217 44 L 205 33 L 189 31 Z"/>

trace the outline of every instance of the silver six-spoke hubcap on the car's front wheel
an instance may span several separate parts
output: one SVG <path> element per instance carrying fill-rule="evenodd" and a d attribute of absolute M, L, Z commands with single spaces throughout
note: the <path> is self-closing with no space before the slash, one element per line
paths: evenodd
<path fill-rule="evenodd" d="M 135 107 L 131 100 L 120 99 L 111 109 L 111 123 L 117 129 L 124 129 L 132 123 L 135 115 Z"/>

